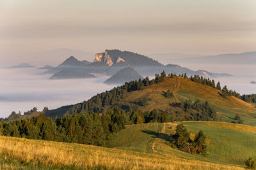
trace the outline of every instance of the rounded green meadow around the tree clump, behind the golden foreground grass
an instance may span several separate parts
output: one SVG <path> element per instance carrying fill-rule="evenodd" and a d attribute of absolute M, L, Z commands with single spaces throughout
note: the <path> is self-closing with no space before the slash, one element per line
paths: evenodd
<path fill-rule="evenodd" d="M 248 125 L 230 124 L 225 122 L 183 122 L 191 132 L 191 138 L 202 130 L 207 136 L 207 157 L 191 155 L 171 148 L 169 136 L 173 133 L 178 123 L 166 124 L 138 124 L 127 127 L 119 132 L 115 138 L 109 141 L 109 147 L 125 150 L 140 150 L 143 152 L 157 152 L 161 155 L 175 155 L 175 157 L 201 160 L 221 164 L 243 165 L 248 156 L 256 157 L 256 127 Z M 159 127 L 161 134 L 159 134 Z M 172 127 L 172 128 L 171 128 Z M 154 130 L 157 129 L 157 130 Z M 139 134 L 136 136 L 136 134 Z M 152 141 L 154 140 L 154 141 Z M 137 141 L 143 141 L 144 145 L 138 145 Z M 145 145 L 152 145 L 152 148 Z"/>

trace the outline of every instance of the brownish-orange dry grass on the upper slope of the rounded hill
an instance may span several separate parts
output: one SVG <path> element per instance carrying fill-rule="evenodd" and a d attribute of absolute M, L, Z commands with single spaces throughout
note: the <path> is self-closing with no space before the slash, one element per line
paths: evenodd
<path fill-rule="evenodd" d="M 168 99 L 163 96 L 163 91 L 167 91 L 168 89 L 175 94 L 175 97 L 172 99 Z M 246 103 L 234 96 L 223 98 L 219 93 L 221 93 L 220 90 L 213 89 L 212 87 L 202 85 L 200 83 L 195 83 L 188 79 L 181 77 L 166 77 L 162 83 L 150 85 L 143 90 L 130 92 L 125 97 L 124 102 L 129 103 L 143 97 L 148 97 L 151 101 L 148 102 L 147 106 L 141 107 L 141 110 L 148 110 L 152 108 L 163 109 L 171 108 L 170 103 L 179 102 L 178 97 L 181 97 L 184 99 L 207 100 L 213 106 L 218 108 L 230 108 L 234 111 L 237 110 L 237 113 L 246 115 L 247 117 L 252 117 L 252 115 L 246 114 L 245 111 L 256 113 L 256 108 L 252 106 L 252 104 Z"/>

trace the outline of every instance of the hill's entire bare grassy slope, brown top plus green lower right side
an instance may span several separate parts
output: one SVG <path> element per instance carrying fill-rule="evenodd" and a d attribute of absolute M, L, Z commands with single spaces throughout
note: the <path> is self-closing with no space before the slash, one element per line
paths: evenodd
<path fill-rule="evenodd" d="M 175 97 L 172 99 L 163 96 L 163 91 L 168 89 L 175 92 Z M 236 122 L 234 117 L 238 113 L 241 119 L 244 120 L 243 124 L 256 125 L 256 108 L 252 104 L 234 96 L 223 98 L 220 96 L 220 92 L 220 90 L 188 79 L 166 77 L 163 83 L 150 85 L 143 90 L 128 93 L 124 103 L 128 104 L 140 101 L 143 97 L 148 97 L 150 101 L 147 102 L 146 106 L 139 106 L 141 110 L 152 110 L 154 108 L 172 111 L 173 108 L 170 103 L 185 101 L 186 99 L 191 99 L 192 101 L 200 99 L 200 101 L 208 101 L 218 111 L 224 122 Z"/>

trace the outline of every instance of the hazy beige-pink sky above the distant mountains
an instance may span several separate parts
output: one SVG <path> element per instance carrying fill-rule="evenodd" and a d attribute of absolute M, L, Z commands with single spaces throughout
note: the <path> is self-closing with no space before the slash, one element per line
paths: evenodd
<path fill-rule="evenodd" d="M 102 52 L 256 50 L 255 0 L 0 1 L 0 62 L 72 48 Z"/>

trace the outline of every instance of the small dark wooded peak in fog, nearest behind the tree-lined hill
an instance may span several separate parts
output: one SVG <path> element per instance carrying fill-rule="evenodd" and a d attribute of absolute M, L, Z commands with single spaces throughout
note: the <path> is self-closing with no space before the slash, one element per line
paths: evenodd
<path fill-rule="evenodd" d="M 135 71 L 131 67 L 126 67 L 108 78 L 108 80 L 104 81 L 104 83 L 120 85 L 124 84 L 125 82 L 139 79 L 143 80 L 143 77 L 137 71 Z"/>

